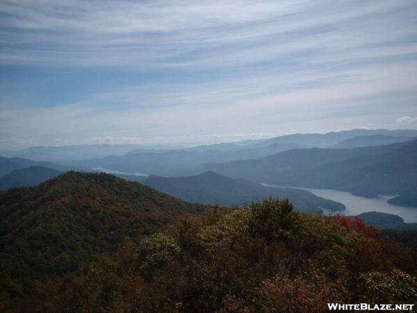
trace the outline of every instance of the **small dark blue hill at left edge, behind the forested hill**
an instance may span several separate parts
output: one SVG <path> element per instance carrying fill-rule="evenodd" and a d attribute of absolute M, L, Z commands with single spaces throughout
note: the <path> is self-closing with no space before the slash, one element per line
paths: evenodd
<path fill-rule="evenodd" d="M 13 170 L 13 172 L 0 177 L 0 190 L 13 187 L 35 186 L 60 174 L 62 172 L 58 170 L 44 168 L 42 166 L 30 166 L 28 168 Z"/>

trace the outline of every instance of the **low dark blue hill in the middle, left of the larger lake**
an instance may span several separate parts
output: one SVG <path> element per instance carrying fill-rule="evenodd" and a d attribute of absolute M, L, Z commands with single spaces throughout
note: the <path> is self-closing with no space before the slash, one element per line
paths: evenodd
<path fill-rule="evenodd" d="M 309 191 L 265 187 L 245 179 L 224 177 L 215 172 L 204 172 L 190 177 L 151 176 L 143 179 L 142 183 L 190 202 L 235 206 L 275 197 L 290 200 L 300 211 L 320 212 L 322 208 L 345 209 L 343 204 L 317 197 Z"/>

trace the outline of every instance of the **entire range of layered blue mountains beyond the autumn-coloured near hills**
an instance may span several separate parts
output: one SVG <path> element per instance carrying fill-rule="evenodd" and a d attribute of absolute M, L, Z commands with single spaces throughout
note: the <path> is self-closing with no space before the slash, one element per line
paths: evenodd
<path fill-rule="evenodd" d="M 18 154 L 34 153 L 40 157 L 50 153 L 63 158 L 53 163 L 0 157 L 0 188 L 32 186 L 72 169 L 88 172 L 104 168 L 123 172 L 116 175 L 124 179 L 147 182 L 158 190 L 190 201 L 238 205 L 269 195 L 291 194 L 289 198 L 302 209 L 306 209 L 306 203 L 313 210 L 320 207 L 318 202 L 311 201 L 311 196 L 299 194 L 297 200 L 294 191 L 288 188 L 277 193 L 259 186 L 265 183 L 329 188 L 367 197 L 395 195 L 390 203 L 414 207 L 417 206 L 417 141 L 411 139 L 413 136 L 417 136 L 417 131 L 353 129 L 176 150 L 145 150 L 136 145 L 33 147 Z M 108 152 L 120 155 L 65 161 Z M 134 172 L 152 177 L 129 175 Z M 212 172 L 211 177 L 205 172 Z M 213 172 L 222 176 L 215 177 Z M 206 178 L 206 184 L 197 190 L 195 183 L 202 177 Z M 220 181 L 228 178 L 234 180 L 224 183 L 224 186 L 230 184 L 230 188 L 222 194 L 216 185 L 222 185 Z M 245 179 L 245 184 L 238 179 Z M 302 204 L 306 198 L 310 201 Z"/>

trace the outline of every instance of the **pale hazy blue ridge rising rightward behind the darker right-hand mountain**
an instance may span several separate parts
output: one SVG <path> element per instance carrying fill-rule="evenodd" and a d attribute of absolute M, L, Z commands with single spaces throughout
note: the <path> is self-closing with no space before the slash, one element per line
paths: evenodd
<path fill-rule="evenodd" d="M 201 173 L 204 171 L 204 166 L 211 163 L 262 159 L 288 150 L 309 147 L 331 149 L 334 145 L 342 144 L 343 141 L 352 138 L 360 142 L 360 136 L 389 136 L 389 140 L 385 139 L 388 144 L 392 143 L 392 138 L 395 138 L 395 142 L 409 141 L 417 137 L 417 131 L 353 129 L 327 134 L 294 134 L 259 141 L 221 143 L 177 150 L 133 150 L 124 155 L 70 162 L 69 165 L 84 170 L 101 167 L 122 172 L 143 172 L 148 175 L 185 176 Z M 383 141 L 374 139 L 371 145 L 381 142 Z"/>

